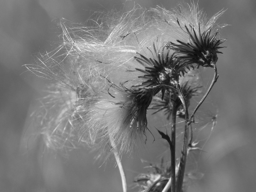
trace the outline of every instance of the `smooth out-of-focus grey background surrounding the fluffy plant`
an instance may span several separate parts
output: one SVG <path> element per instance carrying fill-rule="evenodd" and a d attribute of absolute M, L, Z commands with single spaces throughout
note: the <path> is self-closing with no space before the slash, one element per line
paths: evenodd
<path fill-rule="evenodd" d="M 124 6 L 125 3 L 125 6 Z M 171 9 L 178 0 L 1 0 L 0 1 L 0 191 L 111 191 L 122 190 L 118 169 L 111 161 L 93 163 L 85 149 L 63 156 L 43 147 L 31 117 L 45 81 L 24 64 L 33 54 L 51 51 L 59 40 L 58 19 L 83 23 L 92 10 L 128 11 L 134 4 Z M 204 143 L 196 172 L 204 177 L 191 182 L 190 191 L 240 192 L 256 190 L 256 2 L 253 0 L 199 0 L 210 17 L 227 9 L 218 20 L 229 24 L 220 34 L 228 38 L 219 55 L 219 79 L 212 89 L 217 125 Z M 210 78 L 210 77 L 209 77 Z M 215 110 L 215 111 L 214 111 Z M 211 118 L 211 114 L 209 115 Z M 208 124 L 211 130 L 210 124 Z M 148 142 L 150 143 L 150 142 Z M 152 142 L 151 142 L 152 144 Z M 150 146 L 151 146 L 150 144 Z M 155 156 L 154 144 L 146 156 Z M 154 150 L 153 150 L 154 149 Z M 137 154 L 138 155 L 138 154 Z M 147 172 L 139 156 L 124 157 L 129 191 L 133 179 Z M 145 156 L 145 159 L 147 158 Z M 154 163 L 154 162 L 152 162 Z"/>

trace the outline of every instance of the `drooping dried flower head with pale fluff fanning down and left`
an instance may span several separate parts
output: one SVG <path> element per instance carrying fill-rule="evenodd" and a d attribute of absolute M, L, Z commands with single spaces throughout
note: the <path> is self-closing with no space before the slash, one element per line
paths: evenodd
<path fill-rule="evenodd" d="M 121 154 L 131 151 L 135 141 L 146 135 L 146 115 L 154 89 L 128 89 L 123 84 L 117 86 L 108 82 L 108 91 L 102 92 L 99 101 L 91 106 L 85 117 L 86 124 L 102 140 L 108 143 L 113 141 L 115 146 L 112 148 L 116 148 Z"/>

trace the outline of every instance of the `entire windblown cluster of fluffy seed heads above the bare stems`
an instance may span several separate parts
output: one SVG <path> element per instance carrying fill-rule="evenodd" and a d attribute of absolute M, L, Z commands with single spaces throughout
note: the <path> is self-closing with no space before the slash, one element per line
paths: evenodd
<path fill-rule="evenodd" d="M 152 100 L 159 101 L 155 112 L 170 116 L 177 83 L 187 104 L 198 94 L 200 87 L 186 76 L 218 60 L 224 40 L 216 20 L 222 13 L 207 19 L 192 3 L 172 11 L 137 6 L 85 26 L 61 20 L 60 46 L 26 65 L 51 81 L 38 114 L 46 145 L 71 149 L 86 143 L 131 152 L 146 140 Z"/>

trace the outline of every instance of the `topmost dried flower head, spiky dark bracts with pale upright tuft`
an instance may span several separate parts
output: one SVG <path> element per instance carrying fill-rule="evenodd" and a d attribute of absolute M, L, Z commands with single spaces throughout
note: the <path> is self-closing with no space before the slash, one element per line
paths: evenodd
<path fill-rule="evenodd" d="M 216 13 L 212 18 L 207 20 L 203 11 L 199 10 L 198 5 L 179 5 L 173 11 L 167 11 L 162 8 L 154 9 L 158 13 L 160 30 L 163 34 L 169 31 L 167 47 L 173 50 L 177 55 L 176 58 L 182 59 L 187 65 L 212 67 L 218 60 L 217 53 L 220 44 L 225 40 L 218 39 L 218 29 L 216 20 L 223 14 L 223 10 Z M 165 22 L 165 24 L 164 24 Z M 175 43 L 177 42 L 177 43 Z"/>

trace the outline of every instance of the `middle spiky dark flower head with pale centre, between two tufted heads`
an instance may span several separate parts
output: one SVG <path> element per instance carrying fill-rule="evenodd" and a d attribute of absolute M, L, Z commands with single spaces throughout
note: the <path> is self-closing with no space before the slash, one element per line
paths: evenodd
<path fill-rule="evenodd" d="M 157 42 L 157 41 L 156 41 Z M 145 74 L 138 76 L 143 80 L 142 86 L 156 87 L 154 95 L 160 90 L 162 92 L 162 100 L 166 90 L 172 92 L 175 89 L 174 81 L 179 79 L 179 76 L 186 73 L 186 66 L 178 59 L 174 59 L 174 54 L 169 55 L 170 51 L 166 46 L 162 46 L 160 49 L 156 49 L 155 43 L 153 43 L 153 58 L 145 57 L 144 55 L 137 53 L 140 57 L 135 57 L 136 61 L 144 68 L 135 68 L 137 71 Z M 137 85 L 137 86 L 141 86 Z"/>

